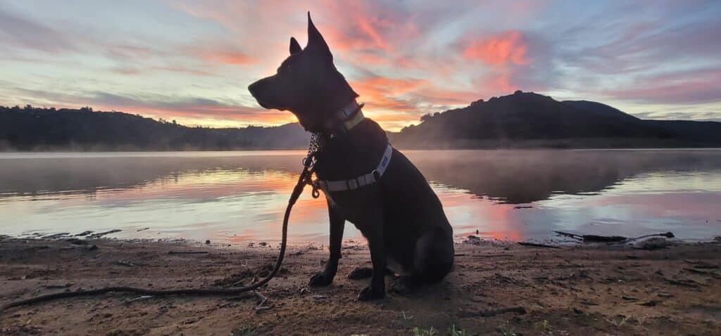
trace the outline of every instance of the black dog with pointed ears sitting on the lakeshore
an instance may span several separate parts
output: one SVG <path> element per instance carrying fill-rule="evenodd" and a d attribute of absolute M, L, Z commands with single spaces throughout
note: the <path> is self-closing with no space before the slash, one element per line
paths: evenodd
<path fill-rule="evenodd" d="M 291 55 L 278 73 L 249 86 L 266 109 L 288 110 L 306 131 L 319 133 L 316 176 L 328 199 L 330 258 L 311 286 L 333 281 L 348 220 L 368 239 L 372 270 L 358 268 L 349 278 L 371 276 L 360 300 L 385 296 L 388 263 L 401 274 L 392 290 L 441 281 L 454 261 L 453 230 L 438 196 L 420 171 L 386 133 L 365 119 L 358 94 L 333 65 L 333 56 L 308 14 L 308 45 L 291 37 Z"/>

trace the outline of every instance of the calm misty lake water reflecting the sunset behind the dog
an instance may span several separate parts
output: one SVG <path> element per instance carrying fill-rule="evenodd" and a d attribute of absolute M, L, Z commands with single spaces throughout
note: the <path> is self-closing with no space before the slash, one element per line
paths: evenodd
<path fill-rule="evenodd" d="M 406 151 L 459 237 L 721 235 L 721 150 Z M 301 151 L 1 153 L 0 234 L 122 229 L 110 237 L 269 241 Z M 292 242 L 326 242 L 323 197 L 291 216 Z M 149 228 L 147 230 L 141 230 Z M 141 230 L 141 231 L 138 231 Z M 348 224 L 345 237 L 360 237 Z"/>

